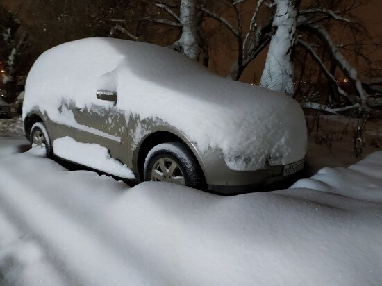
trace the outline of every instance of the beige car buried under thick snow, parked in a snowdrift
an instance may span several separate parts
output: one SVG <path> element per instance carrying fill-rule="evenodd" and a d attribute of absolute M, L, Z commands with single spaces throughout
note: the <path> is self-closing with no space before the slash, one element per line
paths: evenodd
<path fill-rule="evenodd" d="M 47 155 L 138 181 L 229 194 L 304 167 L 297 101 L 142 42 L 94 37 L 46 51 L 28 74 L 23 118 Z"/>

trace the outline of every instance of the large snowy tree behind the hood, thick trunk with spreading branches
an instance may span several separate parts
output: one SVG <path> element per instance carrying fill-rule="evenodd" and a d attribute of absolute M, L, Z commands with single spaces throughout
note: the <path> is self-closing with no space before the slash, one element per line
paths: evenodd
<path fill-rule="evenodd" d="M 295 87 L 299 86 L 296 85 L 296 72 L 304 72 L 306 62 L 310 62 L 318 67 L 320 76 L 324 75 L 331 84 L 334 97 L 347 103 L 347 108 L 356 107 L 358 103 L 366 108 L 367 94 L 363 87 L 369 87 L 371 85 L 367 82 L 375 81 L 361 81 L 353 67 L 355 62 L 348 60 L 355 58 L 355 55 L 366 59 L 365 52 L 359 49 L 365 39 L 360 40 L 359 36 L 367 35 L 367 31 L 352 14 L 363 3 L 364 0 L 224 0 L 218 7 L 201 6 L 201 10 L 226 27 L 237 42 L 238 56 L 231 67 L 230 78 L 238 80 L 258 53 L 269 47 L 261 76 L 264 87 L 294 94 Z M 227 9 L 219 9 L 222 6 Z M 247 19 L 248 10 L 252 11 L 250 21 Z M 338 41 L 339 28 L 346 31 L 342 33 L 346 33 L 352 43 Z M 357 49 L 349 49 L 350 44 Z M 299 57 L 300 53 L 305 55 L 304 58 Z M 337 81 L 339 74 L 354 87 L 356 98 L 340 87 Z"/>

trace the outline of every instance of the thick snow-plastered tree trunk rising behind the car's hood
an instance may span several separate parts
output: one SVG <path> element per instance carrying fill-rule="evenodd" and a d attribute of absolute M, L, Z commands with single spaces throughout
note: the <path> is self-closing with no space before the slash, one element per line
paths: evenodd
<path fill-rule="evenodd" d="M 296 42 L 298 0 L 275 0 L 274 35 L 260 84 L 270 90 L 294 94 L 292 48 Z"/>

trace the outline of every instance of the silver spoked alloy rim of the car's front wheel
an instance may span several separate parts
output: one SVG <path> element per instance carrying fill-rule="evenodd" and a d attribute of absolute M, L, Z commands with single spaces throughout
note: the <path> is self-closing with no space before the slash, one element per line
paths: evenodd
<path fill-rule="evenodd" d="M 151 180 L 155 182 L 176 183 L 185 185 L 185 178 L 181 167 L 171 158 L 159 158 L 151 169 Z"/>

